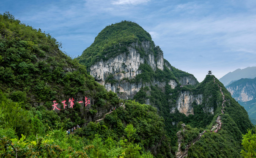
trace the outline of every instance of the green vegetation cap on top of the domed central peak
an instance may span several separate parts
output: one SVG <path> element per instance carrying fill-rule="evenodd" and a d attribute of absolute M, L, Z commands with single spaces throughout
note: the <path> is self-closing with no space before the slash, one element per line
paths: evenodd
<path fill-rule="evenodd" d="M 127 46 L 132 43 L 140 44 L 143 41 L 153 41 L 148 32 L 135 22 L 121 21 L 120 23 L 111 24 L 95 37 L 94 43 L 83 51 L 83 54 L 77 59 L 86 67 L 91 67 L 101 59 L 103 61 L 122 53 L 128 53 Z M 145 55 L 143 48 L 132 46 L 141 56 Z"/>

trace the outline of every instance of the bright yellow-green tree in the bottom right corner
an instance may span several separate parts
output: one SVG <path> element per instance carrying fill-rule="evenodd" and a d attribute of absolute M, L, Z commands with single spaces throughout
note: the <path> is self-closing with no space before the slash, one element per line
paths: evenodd
<path fill-rule="evenodd" d="M 247 131 L 248 133 L 242 137 L 241 155 L 244 158 L 256 158 L 256 134 L 252 134 L 251 129 Z"/>

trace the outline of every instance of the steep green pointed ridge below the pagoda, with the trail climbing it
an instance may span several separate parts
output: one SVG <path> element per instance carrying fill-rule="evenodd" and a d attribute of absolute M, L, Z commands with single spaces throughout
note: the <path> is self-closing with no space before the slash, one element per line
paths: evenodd
<path fill-rule="evenodd" d="M 188 157 L 241 157 L 239 152 L 241 150 L 242 134 L 245 134 L 248 128 L 253 127 L 248 115 L 245 109 L 231 97 L 231 94 L 220 81 L 215 78 L 214 82 L 207 84 L 217 85 L 219 90 L 216 92 L 218 98 L 217 110 L 208 129 L 213 129 L 212 127 L 219 123 L 218 118 L 221 121 L 220 129 L 215 132 L 207 130 L 201 136 L 201 139 L 190 147 Z"/>

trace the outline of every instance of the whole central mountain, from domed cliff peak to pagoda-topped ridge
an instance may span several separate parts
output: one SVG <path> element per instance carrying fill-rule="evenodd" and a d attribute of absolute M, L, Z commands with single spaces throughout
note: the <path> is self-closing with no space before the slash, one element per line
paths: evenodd
<path fill-rule="evenodd" d="M 240 157 L 242 134 L 253 127 L 245 109 L 214 75 L 198 83 L 171 66 L 138 24 L 105 27 L 77 60 L 107 91 L 157 108 L 173 156 Z"/>

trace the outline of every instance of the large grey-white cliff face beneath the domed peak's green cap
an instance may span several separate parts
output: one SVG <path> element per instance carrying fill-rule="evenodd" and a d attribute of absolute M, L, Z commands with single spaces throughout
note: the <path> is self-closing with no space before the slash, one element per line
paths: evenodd
<path fill-rule="evenodd" d="M 143 50 L 146 56 L 141 57 L 138 48 Z M 119 93 L 118 95 L 123 99 L 133 98 L 133 96 L 143 86 L 150 86 L 150 83 L 131 83 L 129 80 L 136 77 L 141 73 L 138 70 L 140 64 L 149 64 L 153 70 L 163 70 L 163 53 L 158 50 L 157 55 L 154 56 L 152 50 L 152 43 L 150 41 L 143 41 L 141 45 L 138 43 L 132 43 L 127 47 L 128 53 L 120 54 L 114 58 L 111 58 L 105 62 L 100 61 L 90 67 L 90 74 L 105 88 L 107 91 L 113 91 Z M 118 83 L 110 84 L 106 83 L 106 79 L 109 75 L 113 75 L 114 80 L 118 80 Z M 160 87 L 164 87 L 165 83 L 154 81 L 153 84 L 157 84 Z M 174 83 L 172 83 L 174 84 Z M 175 87 L 175 86 L 174 86 Z"/>

